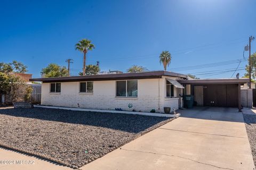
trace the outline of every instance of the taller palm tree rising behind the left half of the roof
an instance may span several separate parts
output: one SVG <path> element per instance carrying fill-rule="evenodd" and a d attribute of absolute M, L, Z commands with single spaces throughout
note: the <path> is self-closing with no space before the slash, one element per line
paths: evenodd
<path fill-rule="evenodd" d="M 92 50 L 93 48 L 95 48 L 95 46 L 91 43 L 89 39 L 82 39 L 75 45 L 76 50 L 79 50 L 80 52 L 84 53 L 83 75 L 85 75 L 86 53 L 89 50 Z"/>

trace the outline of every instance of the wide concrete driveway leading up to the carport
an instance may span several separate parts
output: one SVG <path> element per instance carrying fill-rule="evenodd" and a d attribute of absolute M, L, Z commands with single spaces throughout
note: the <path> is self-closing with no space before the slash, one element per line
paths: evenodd
<path fill-rule="evenodd" d="M 242 113 L 195 108 L 81 169 L 255 169 Z"/>

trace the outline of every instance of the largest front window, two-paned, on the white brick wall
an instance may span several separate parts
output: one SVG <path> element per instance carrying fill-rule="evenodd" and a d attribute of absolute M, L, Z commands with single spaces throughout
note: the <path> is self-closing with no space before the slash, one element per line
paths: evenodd
<path fill-rule="evenodd" d="M 116 97 L 138 97 L 138 80 L 116 81 Z"/>

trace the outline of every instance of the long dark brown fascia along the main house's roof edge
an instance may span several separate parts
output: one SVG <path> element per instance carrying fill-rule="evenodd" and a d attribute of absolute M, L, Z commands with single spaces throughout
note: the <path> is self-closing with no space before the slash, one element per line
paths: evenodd
<path fill-rule="evenodd" d="M 58 78 L 36 78 L 29 81 L 46 82 L 74 82 L 74 81 L 104 81 L 104 80 L 132 80 L 132 79 L 157 79 L 162 76 L 178 77 L 186 79 L 187 75 L 169 72 L 169 71 L 150 71 L 142 73 L 119 73 L 119 74 L 100 74 L 100 75 L 84 75 Z"/>

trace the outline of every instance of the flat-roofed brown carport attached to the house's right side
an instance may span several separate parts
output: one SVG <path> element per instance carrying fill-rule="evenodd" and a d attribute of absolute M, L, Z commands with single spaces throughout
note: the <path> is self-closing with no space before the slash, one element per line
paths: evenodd
<path fill-rule="evenodd" d="M 178 80 L 185 94 L 194 95 L 197 106 L 238 107 L 241 112 L 241 85 L 249 79 Z"/>

